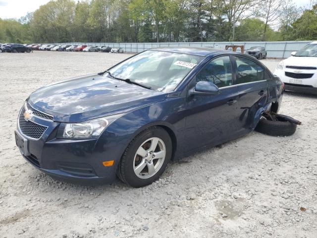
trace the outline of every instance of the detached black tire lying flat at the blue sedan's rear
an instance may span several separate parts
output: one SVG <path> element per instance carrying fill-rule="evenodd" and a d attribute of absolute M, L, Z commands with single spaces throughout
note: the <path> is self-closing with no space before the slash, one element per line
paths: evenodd
<path fill-rule="evenodd" d="M 260 119 L 256 131 L 274 136 L 289 136 L 295 133 L 296 124 L 289 121 L 273 121 L 265 118 Z"/>

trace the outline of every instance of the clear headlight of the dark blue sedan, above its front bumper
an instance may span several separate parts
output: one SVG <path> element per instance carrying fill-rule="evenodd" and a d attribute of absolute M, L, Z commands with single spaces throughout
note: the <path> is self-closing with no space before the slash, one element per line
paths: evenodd
<path fill-rule="evenodd" d="M 93 139 L 97 138 L 106 127 L 123 114 L 112 115 L 104 118 L 87 120 L 84 122 L 61 123 L 57 138 L 62 139 Z"/>

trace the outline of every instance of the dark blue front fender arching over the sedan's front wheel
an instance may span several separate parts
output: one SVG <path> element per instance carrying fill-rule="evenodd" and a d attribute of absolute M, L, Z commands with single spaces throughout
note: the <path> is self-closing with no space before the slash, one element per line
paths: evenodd
<path fill-rule="evenodd" d="M 173 100 L 173 103 L 168 101 Z M 112 122 L 96 143 L 96 149 L 117 166 L 123 152 L 133 138 L 151 126 L 162 126 L 171 135 L 173 151 L 176 150 L 178 131 L 185 126 L 186 98 L 170 98 L 129 112 Z"/>

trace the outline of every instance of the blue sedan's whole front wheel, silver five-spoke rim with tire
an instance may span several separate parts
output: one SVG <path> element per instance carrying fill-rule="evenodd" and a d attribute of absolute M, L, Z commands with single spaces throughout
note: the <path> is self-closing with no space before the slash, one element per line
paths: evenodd
<path fill-rule="evenodd" d="M 163 174 L 172 155 L 172 140 L 160 127 L 142 131 L 124 151 L 117 176 L 132 187 L 151 184 Z"/>

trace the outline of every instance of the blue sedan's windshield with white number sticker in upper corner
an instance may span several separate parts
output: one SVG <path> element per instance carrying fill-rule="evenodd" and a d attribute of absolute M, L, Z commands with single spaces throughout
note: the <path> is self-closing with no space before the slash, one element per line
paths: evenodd
<path fill-rule="evenodd" d="M 202 59 L 199 56 L 150 50 L 119 63 L 109 71 L 114 77 L 170 92 Z"/>

